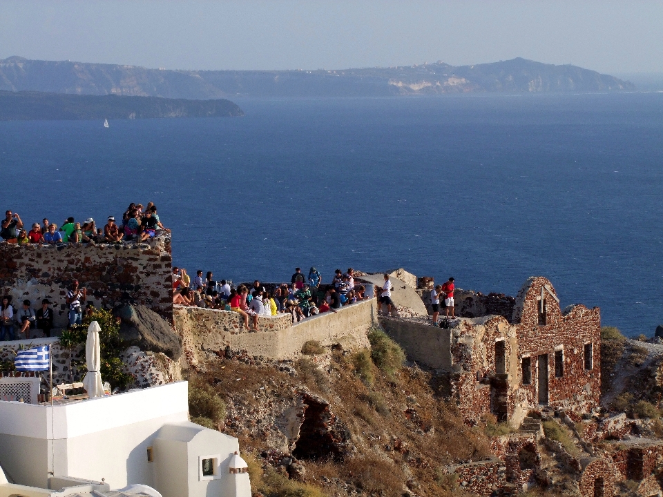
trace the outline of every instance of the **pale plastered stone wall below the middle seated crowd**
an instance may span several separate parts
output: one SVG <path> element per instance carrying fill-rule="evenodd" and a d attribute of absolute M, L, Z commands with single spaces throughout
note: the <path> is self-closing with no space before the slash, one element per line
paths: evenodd
<path fill-rule="evenodd" d="M 366 333 L 376 322 L 376 300 L 358 302 L 292 324 L 290 314 L 259 316 L 258 331 L 244 328 L 242 317 L 232 311 L 175 306 L 175 328 L 182 338 L 186 361 L 198 366 L 206 353 L 246 351 L 249 355 L 283 360 L 300 354 L 308 340 L 323 346 L 367 346 Z"/>

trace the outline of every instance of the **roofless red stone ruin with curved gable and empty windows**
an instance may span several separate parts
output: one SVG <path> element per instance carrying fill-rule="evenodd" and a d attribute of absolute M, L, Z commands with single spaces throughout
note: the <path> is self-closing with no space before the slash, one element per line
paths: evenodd
<path fill-rule="evenodd" d="M 457 293 L 457 315 L 450 329 L 381 323 L 411 358 L 448 378 L 447 393 L 468 422 L 492 413 L 517 426 L 541 407 L 588 413 L 599 406 L 598 308 L 562 311 L 553 285 L 531 277 L 515 299 Z"/>

